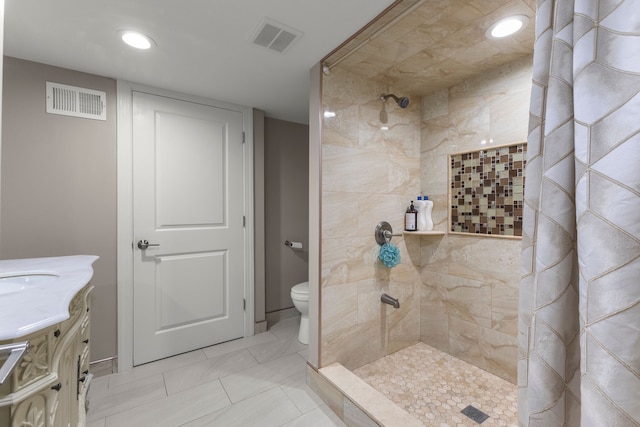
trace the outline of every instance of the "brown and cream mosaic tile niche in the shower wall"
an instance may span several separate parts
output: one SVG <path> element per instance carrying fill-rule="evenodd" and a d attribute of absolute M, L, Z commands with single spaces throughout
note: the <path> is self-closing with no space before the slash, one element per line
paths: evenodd
<path fill-rule="evenodd" d="M 450 156 L 452 233 L 522 237 L 525 142 Z"/>

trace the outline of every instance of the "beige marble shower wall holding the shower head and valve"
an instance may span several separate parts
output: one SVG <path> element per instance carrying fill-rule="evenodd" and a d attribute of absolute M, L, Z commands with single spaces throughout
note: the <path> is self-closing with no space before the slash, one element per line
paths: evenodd
<path fill-rule="evenodd" d="M 420 194 L 420 100 L 407 109 L 388 101 L 382 131 L 380 95 L 393 92 L 387 82 L 338 71 L 325 87 L 324 104 L 337 108 L 322 141 L 321 365 L 357 367 L 420 339 L 420 240 L 394 237 L 402 262 L 389 269 L 374 236 L 380 221 L 401 233 L 406 207 Z M 384 292 L 399 309 L 381 303 Z"/>

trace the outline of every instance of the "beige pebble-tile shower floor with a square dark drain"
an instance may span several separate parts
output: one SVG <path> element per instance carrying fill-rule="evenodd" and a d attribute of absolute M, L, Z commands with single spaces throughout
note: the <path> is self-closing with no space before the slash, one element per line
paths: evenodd
<path fill-rule="evenodd" d="M 514 384 L 423 343 L 354 371 L 426 426 L 517 426 Z M 460 411 L 489 415 L 481 424 Z"/>

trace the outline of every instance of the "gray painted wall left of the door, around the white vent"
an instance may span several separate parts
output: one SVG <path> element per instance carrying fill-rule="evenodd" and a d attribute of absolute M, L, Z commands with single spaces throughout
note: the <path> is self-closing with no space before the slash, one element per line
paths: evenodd
<path fill-rule="evenodd" d="M 45 82 L 107 93 L 107 120 L 46 114 Z M 4 58 L 0 258 L 98 255 L 91 359 L 116 354 L 116 82 Z"/>

